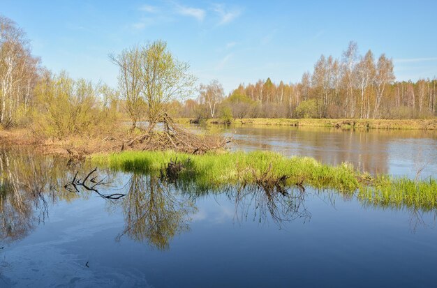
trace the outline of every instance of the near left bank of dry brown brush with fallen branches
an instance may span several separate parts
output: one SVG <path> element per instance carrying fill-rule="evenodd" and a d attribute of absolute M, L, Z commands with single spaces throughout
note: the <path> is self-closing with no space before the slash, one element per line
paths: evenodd
<path fill-rule="evenodd" d="M 0 146 L 27 146 L 36 153 L 81 159 L 94 153 L 121 151 L 167 151 L 191 154 L 218 151 L 230 142 L 228 137 L 211 133 L 193 133 L 182 126 L 153 130 L 126 126 L 114 127 L 112 132 L 63 137 L 38 137 L 31 128 L 0 130 Z"/>

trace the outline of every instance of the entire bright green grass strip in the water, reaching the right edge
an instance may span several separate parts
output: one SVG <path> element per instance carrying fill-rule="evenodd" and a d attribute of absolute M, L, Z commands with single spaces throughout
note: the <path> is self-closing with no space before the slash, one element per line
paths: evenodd
<path fill-rule="evenodd" d="M 229 185 L 255 184 L 260 179 L 286 179 L 287 187 L 310 185 L 333 189 L 343 195 L 371 204 L 437 208 L 437 181 L 413 181 L 387 175 L 371 176 L 346 163 L 325 165 L 313 158 L 286 158 L 269 151 L 206 153 L 189 155 L 174 151 L 126 151 L 111 155 L 97 154 L 91 162 L 124 172 L 161 174 L 170 161 L 181 162 L 184 169 L 178 179 L 200 190 L 220 190 Z"/>

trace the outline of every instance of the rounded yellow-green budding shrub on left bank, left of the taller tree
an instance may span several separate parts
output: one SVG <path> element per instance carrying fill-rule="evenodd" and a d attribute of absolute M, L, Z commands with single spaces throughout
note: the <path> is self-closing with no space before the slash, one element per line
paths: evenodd
<path fill-rule="evenodd" d="M 113 128 L 116 93 L 108 86 L 66 73 L 47 73 L 36 86 L 34 132 L 40 137 L 58 139 L 71 135 L 96 135 Z"/>

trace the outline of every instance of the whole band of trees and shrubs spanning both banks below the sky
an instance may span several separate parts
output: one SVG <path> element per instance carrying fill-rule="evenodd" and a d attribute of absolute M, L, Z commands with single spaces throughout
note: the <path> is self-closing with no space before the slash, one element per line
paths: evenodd
<path fill-rule="evenodd" d="M 313 72 L 304 73 L 298 83 L 260 79 L 240 84 L 227 96 L 216 79 L 196 86 L 188 64 L 177 61 L 165 42 L 149 43 L 148 48 L 161 47 L 158 53 L 172 65 L 161 79 L 179 77 L 155 91 L 163 95 L 157 100 L 151 94 L 155 86 L 139 80 L 147 77 L 140 61 L 151 61 L 143 59 L 140 46 L 110 55 L 108 61 L 121 68 L 119 85 L 111 87 L 47 70 L 13 20 L 0 17 L 0 31 L 1 127 L 29 127 L 40 137 L 91 135 L 112 130 L 117 119 L 131 119 L 135 128 L 141 121 L 160 121 L 154 113 L 191 119 L 429 119 L 437 111 L 435 77 L 396 82 L 392 59 L 371 50 L 360 55 L 355 42 L 341 59 L 320 56 Z M 123 69 L 126 65 L 136 70 Z"/>

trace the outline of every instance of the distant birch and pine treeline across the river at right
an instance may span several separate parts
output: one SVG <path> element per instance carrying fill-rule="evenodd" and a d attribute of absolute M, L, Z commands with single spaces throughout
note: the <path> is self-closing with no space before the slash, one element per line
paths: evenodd
<path fill-rule="evenodd" d="M 227 97 L 214 81 L 196 100 L 177 105 L 188 118 L 416 119 L 436 116 L 437 79 L 394 82 L 393 61 L 357 54 L 351 42 L 341 59 L 320 56 L 313 73 L 295 84 L 258 80 L 240 84 Z M 214 109 L 213 109 L 214 108 Z"/>

